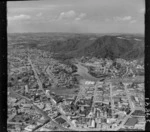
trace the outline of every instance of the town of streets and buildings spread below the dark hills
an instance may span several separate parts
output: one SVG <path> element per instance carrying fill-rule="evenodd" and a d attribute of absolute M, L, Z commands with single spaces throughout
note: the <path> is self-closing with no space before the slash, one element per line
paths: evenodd
<path fill-rule="evenodd" d="M 144 67 L 137 61 L 82 57 L 74 60 L 74 72 L 49 52 L 15 48 L 8 53 L 8 131 L 145 129 Z M 96 78 L 91 67 L 105 76 Z M 75 90 L 54 91 L 65 87 Z"/>

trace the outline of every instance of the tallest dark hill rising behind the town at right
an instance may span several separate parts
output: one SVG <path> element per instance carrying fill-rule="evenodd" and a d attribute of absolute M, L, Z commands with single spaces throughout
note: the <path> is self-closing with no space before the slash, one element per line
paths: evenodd
<path fill-rule="evenodd" d="M 104 36 L 86 47 L 83 52 L 85 54 L 92 53 L 92 56 L 102 58 L 137 59 L 144 56 L 144 41 Z"/>

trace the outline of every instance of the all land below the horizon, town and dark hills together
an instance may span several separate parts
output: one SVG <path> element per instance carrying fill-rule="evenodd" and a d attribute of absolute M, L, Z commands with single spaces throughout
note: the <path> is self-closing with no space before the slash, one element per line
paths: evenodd
<path fill-rule="evenodd" d="M 8 132 L 144 131 L 143 47 L 137 34 L 8 34 Z"/>

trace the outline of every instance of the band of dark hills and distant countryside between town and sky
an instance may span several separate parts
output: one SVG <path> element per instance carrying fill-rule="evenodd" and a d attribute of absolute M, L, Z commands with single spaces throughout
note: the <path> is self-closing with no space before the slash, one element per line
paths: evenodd
<path fill-rule="evenodd" d="M 8 43 L 48 50 L 57 53 L 56 58 L 93 56 L 98 58 L 144 58 L 142 34 L 67 34 L 25 33 L 9 34 Z"/>

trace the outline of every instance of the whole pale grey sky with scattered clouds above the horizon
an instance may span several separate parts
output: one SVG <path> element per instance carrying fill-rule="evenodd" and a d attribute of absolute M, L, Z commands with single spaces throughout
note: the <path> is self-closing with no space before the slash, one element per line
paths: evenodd
<path fill-rule="evenodd" d="M 143 34 L 144 14 L 144 0 L 9 1 L 7 30 Z"/>

